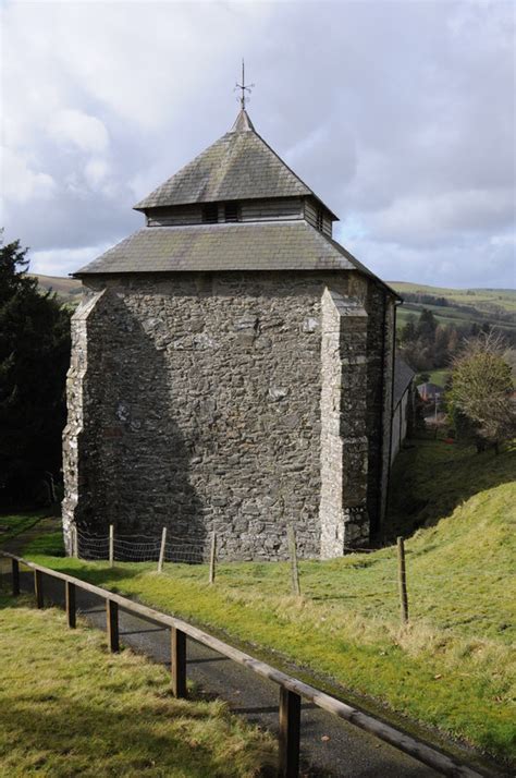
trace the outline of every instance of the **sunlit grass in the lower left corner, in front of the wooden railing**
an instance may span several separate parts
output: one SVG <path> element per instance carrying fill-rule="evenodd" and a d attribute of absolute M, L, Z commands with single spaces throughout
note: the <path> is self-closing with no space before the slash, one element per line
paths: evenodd
<path fill-rule="evenodd" d="M 271 738 L 221 703 L 174 700 L 167 670 L 56 610 L 0 595 L 0 774 L 257 776 Z"/>

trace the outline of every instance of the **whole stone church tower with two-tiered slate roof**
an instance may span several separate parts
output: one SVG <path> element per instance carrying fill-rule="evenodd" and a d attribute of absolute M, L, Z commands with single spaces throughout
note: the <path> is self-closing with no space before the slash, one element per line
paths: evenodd
<path fill-rule="evenodd" d="M 396 295 L 242 110 L 74 276 L 64 534 L 341 556 L 382 522 Z"/>

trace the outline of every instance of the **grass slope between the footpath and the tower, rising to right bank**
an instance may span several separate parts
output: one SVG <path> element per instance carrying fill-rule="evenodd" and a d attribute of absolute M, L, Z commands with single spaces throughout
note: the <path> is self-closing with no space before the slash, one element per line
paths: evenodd
<path fill-rule="evenodd" d="M 420 441 L 396 461 L 392 535 L 407 542 L 410 624 L 400 624 L 396 551 L 205 566 L 36 557 L 225 635 L 394 720 L 418 721 L 499 759 L 515 756 L 515 452 Z M 34 556 L 36 548 L 28 549 Z"/>

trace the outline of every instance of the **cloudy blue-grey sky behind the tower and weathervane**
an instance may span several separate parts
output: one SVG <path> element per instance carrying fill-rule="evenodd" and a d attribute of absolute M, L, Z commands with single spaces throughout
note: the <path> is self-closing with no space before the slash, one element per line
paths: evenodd
<path fill-rule="evenodd" d="M 1 5 L 4 241 L 65 276 L 223 135 L 259 134 L 384 280 L 514 288 L 513 0 Z"/>

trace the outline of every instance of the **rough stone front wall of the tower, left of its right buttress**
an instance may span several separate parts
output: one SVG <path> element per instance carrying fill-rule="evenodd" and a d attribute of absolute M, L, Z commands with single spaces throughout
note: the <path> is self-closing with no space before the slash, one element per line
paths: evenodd
<path fill-rule="evenodd" d="M 162 526 L 216 531 L 222 558 L 275 559 L 293 523 L 299 555 L 318 556 L 321 297 L 352 281 L 342 271 L 88 279 L 93 296 L 73 318 L 65 532 L 72 522 L 155 537 Z M 367 302 L 368 283 L 360 293 Z M 361 380 L 349 391 L 364 398 Z"/>

